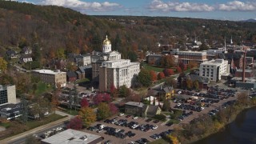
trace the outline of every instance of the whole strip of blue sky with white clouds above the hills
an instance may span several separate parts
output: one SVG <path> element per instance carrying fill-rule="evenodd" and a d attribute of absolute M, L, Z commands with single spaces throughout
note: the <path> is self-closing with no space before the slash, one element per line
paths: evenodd
<path fill-rule="evenodd" d="M 64 6 L 88 15 L 165 16 L 230 21 L 256 19 L 256 0 L 14 0 Z"/>

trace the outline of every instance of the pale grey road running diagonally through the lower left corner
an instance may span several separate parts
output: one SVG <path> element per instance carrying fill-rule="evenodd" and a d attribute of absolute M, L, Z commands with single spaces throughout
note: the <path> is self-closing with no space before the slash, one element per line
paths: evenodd
<path fill-rule="evenodd" d="M 14 135 L 14 136 L 12 136 L 10 138 L 3 139 L 2 141 L 0 141 L 0 143 L 10 143 L 10 142 L 13 142 L 13 141 L 15 141 L 15 140 L 17 140 L 19 138 L 24 138 L 24 137 L 26 137 L 26 136 L 28 136 L 30 134 L 34 134 L 34 133 L 38 132 L 39 130 L 50 128 L 52 126 L 55 126 L 55 125 L 60 124 L 62 122 L 65 122 L 65 121 L 67 121 L 69 119 L 70 119 L 69 117 L 66 117 L 66 118 L 62 118 L 62 119 L 59 119 L 59 120 L 54 121 L 54 122 L 50 122 L 50 123 L 48 123 L 46 125 L 43 125 L 43 126 L 38 126 L 37 128 L 34 128 L 32 130 L 28 130 L 28 131 L 23 132 L 21 134 Z"/>

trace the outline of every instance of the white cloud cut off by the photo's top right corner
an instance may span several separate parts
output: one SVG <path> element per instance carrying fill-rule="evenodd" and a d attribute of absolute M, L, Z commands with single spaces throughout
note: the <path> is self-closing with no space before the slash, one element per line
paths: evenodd
<path fill-rule="evenodd" d="M 240 2 L 240 1 L 226 2 L 226 4 L 219 4 L 218 10 L 254 11 L 254 10 L 256 10 L 256 2 Z"/>

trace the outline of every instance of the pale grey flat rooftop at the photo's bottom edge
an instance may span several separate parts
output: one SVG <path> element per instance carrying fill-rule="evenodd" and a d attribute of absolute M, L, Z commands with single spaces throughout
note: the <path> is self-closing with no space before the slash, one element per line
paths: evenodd
<path fill-rule="evenodd" d="M 55 134 L 50 138 L 43 139 L 43 143 L 52 144 L 93 144 L 102 142 L 103 138 L 99 135 L 89 134 L 78 130 L 68 129 Z"/>

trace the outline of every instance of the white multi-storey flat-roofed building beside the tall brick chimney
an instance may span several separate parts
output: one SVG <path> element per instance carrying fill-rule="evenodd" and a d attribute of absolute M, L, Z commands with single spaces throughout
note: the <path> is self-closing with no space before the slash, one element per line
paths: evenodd
<path fill-rule="evenodd" d="M 230 74 L 230 65 L 224 59 L 213 59 L 200 64 L 199 75 L 210 81 L 220 81 L 222 74 Z"/>

